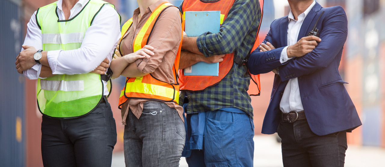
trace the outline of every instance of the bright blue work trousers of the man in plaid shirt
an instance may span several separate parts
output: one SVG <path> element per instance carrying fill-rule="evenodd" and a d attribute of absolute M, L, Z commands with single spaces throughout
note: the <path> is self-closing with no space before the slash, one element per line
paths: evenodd
<path fill-rule="evenodd" d="M 254 123 L 247 114 L 215 110 L 204 112 L 203 142 L 197 143 L 187 129 L 189 143 L 202 145 L 186 157 L 189 167 L 251 167 L 254 158 Z M 190 122 L 187 115 L 187 123 Z"/>

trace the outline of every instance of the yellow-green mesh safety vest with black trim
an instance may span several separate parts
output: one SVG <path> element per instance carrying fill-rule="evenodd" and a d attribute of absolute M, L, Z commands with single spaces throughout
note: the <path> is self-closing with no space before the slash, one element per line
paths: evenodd
<path fill-rule="evenodd" d="M 104 7 L 114 5 L 102 0 L 89 0 L 69 20 L 59 20 L 57 2 L 41 7 L 36 20 L 42 30 L 43 50 L 80 48 L 87 28 Z M 55 75 L 38 79 L 37 104 L 42 114 L 53 118 L 75 118 L 92 112 L 103 98 L 104 86 L 99 74 Z"/>

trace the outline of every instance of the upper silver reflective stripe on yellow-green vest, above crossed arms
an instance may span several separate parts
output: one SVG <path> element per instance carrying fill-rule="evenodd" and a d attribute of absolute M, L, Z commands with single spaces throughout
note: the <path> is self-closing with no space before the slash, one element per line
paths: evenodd
<path fill-rule="evenodd" d="M 67 43 L 82 43 L 84 33 L 43 33 L 43 43 L 67 44 Z"/>

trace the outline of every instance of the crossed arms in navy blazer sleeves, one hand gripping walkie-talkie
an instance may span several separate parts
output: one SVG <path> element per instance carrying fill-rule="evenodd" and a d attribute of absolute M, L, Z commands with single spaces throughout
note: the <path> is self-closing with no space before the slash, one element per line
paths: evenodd
<path fill-rule="evenodd" d="M 279 67 L 281 80 L 289 80 L 291 78 L 300 77 L 313 73 L 315 70 L 327 67 L 338 55 L 338 52 L 342 49 L 346 37 L 347 37 L 347 19 L 346 14 L 341 7 L 333 10 L 324 20 L 323 28 L 321 30 L 322 42 L 316 45 L 314 42 L 310 43 L 310 40 L 317 40 L 314 36 L 303 37 L 299 40 L 294 47 L 291 45 L 292 50 L 295 52 L 301 52 L 296 58 L 293 58 L 286 63 L 281 64 L 279 60 L 265 61 L 268 57 L 280 56 L 284 47 L 268 50 L 265 45 L 261 47 L 265 48 L 264 52 L 259 50 L 251 53 L 248 67 L 253 74 L 267 73 L 273 69 Z M 269 32 L 271 33 L 271 32 Z M 267 41 L 271 41 L 271 34 L 266 36 Z M 266 42 L 265 39 L 265 42 Z M 307 41 L 307 42 L 306 42 Z M 320 41 L 320 39 L 318 40 Z M 300 43 L 302 42 L 302 44 Z M 306 45 L 314 45 L 314 48 L 306 49 Z M 310 46 L 309 46 L 310 47 Z M 271 48 L 271 47 L 270 47 Z M 289 47 L 287 48 L 288 57 Z M 295 77 L 285 77 L 287 74 L 296 73 Z"/>

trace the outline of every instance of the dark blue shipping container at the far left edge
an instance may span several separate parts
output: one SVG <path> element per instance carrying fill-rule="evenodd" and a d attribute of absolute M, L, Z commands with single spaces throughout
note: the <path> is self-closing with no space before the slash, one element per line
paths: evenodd
<path fill-rule="evenodd" d="M 24 77 L 15 68 L 23 40 L 20 0 L 0 1 L 0 166 L 25 165 Z"/>

